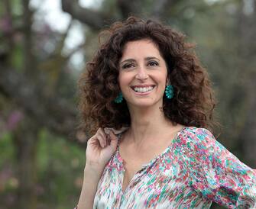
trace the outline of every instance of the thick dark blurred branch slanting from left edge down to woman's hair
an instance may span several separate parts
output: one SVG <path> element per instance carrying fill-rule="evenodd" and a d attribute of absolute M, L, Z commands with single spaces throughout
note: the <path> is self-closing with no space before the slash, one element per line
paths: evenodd
<path fill-rule="evenodd" d="M 26 114 L 34 118 L 41 126 L 47 127 L 53 133 L 76 141 L 86 147 L 85 139 L 77 135 L 77 111 L 64 98 L 46 97 L 42 84 L 31 82 L 23 74 L 13 69 L 7 69 L 0 64 L 0 91 L 8 95 Z"/>

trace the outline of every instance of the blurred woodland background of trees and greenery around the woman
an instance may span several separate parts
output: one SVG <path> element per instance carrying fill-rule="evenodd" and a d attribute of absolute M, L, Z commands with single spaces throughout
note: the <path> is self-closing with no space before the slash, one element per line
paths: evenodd
<path fill-rule="evenodd" d="M 256 168 L 255 0 L 1 0 L 0 209 L 76 206 L 86 161 L 77 79 L 99 31 L 129 14 L 197 44 L 219 101 L 218 140 Z"/>

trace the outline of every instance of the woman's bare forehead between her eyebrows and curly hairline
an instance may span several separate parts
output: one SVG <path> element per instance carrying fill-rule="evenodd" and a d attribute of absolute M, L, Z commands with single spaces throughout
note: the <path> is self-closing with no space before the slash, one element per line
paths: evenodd
<path fill-rule="evenodd" d="M 160 51 L 157 44 L 152 40 L 134 40 L 125 43 L 122 59 L 137 56 L 157 56 L 160 58 Z"/>

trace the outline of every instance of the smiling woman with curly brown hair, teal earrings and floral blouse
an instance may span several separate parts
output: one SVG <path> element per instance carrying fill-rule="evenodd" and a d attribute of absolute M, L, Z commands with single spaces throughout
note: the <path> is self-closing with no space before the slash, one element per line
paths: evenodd
<path fill-rule="evenodd" d="M 108 33 L 80 80 L 83 121 L 100 128 L 77 207 L 256 207 L 256 171 L 209 131 L 213 92 L 183 35 L 133 17 Z"/>

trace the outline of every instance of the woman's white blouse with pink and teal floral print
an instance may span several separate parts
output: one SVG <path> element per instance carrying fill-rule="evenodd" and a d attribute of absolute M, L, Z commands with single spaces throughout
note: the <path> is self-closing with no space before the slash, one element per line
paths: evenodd
<path fill-rule="evenodd" d="M 209 208 L 212 201 L 228 208 L 256 208 L 256 170 L 204 128 L 180 130 L 122 191 L 124 173 L 117 149 L 99 180 L 94 209 Z"/>

